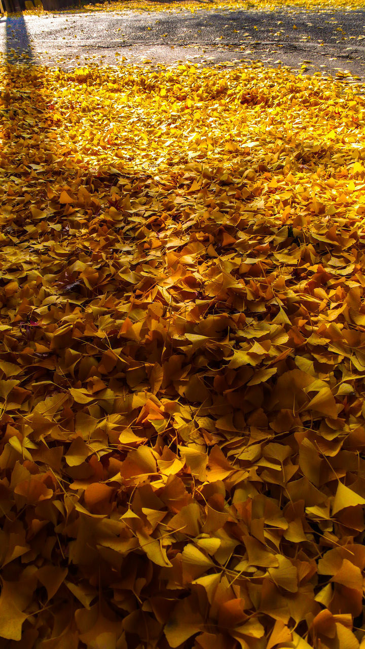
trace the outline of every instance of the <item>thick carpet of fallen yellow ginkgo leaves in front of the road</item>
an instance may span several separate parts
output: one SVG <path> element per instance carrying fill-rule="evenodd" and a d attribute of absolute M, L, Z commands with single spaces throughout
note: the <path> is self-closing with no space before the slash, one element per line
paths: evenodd
<path fill-rule="evenodd" d="M 362 87 L 0 75 L 1 648 L 359 648 Z"/>

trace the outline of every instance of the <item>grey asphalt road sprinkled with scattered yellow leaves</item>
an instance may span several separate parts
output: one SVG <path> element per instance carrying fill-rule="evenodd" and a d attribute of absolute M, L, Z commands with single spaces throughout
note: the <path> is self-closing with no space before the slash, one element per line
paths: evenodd
<path fill-rule="evenodd" d="M 365 10 L 90 12 L 0 20 L 0 50 L 35 63 L 203 64 L 261 60 L 305 73 L 344 71 L 365 80 Z M 25 58 L 23 58 L 25 60 Z"/>

